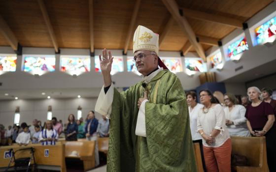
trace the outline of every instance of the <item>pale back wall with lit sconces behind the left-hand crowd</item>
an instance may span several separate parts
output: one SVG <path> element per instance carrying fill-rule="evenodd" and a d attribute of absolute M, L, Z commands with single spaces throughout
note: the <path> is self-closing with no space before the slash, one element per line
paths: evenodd
<path fill-rule="evenodd" d="M 20 107 L 20 123 L 32 124 L 33 119 L 41 120 L 42 124 L 47 120 L 48 106 L 52 106 L 52 116 L 67 121 L 69 114 L 77 117 L 77 108 L 81 106 L 82 117 L 85 119 L 89 111 L 95 109 L 96 98 L 73 99 L 38 99 L 38 100 L 12 100 L 0 101 L 0 123 L 5 127 L 12 125 L 15 108 Z M 100 119 L 101 115 L 96 113 Z"/>

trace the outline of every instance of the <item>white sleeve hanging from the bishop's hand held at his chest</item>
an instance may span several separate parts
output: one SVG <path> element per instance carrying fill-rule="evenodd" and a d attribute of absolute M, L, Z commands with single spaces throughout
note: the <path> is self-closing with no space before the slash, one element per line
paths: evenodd
<path fill-rule="evenodd" d="M 144 100 L 138 112 L 135 134 L 137 136 L 146 137 L 146 118 L 145 118 L 145 103 L 148 100 Z"/>

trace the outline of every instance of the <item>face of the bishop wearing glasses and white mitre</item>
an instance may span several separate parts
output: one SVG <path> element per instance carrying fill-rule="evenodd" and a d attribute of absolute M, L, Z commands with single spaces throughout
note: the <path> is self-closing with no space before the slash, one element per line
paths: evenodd
<path fill-rule="evenodd" d="M 134 53 L 134 59 L 138 72 L 144 76 L 158 67 L 158 57 L 152 51 L 138 50 Z"/>

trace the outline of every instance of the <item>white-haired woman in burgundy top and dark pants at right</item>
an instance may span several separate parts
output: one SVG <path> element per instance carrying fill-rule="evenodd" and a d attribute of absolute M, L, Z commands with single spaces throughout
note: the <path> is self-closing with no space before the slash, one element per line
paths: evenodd
<path fill-rule="evenodd" d="M 252 136 L 266 137 L 267 161 L 270 172 L 276 172 L 276 125 L 275 114 L 269 103 L 263 102 L 259 88 L 252 86 L 247 89 L 251 105 L 246 108 L 247 127 Z"/>

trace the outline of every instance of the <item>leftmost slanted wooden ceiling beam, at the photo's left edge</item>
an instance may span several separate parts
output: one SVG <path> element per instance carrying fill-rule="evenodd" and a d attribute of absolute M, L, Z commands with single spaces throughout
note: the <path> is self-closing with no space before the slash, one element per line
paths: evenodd
<path fill-rule="evenodd" d="M 18 48 L 18 40 L 1 15 L 0 15 L 0 33 L 5 37 L 6 41 L 11 46 L 11 48 L 14 51 L 16 51 Z"/>

